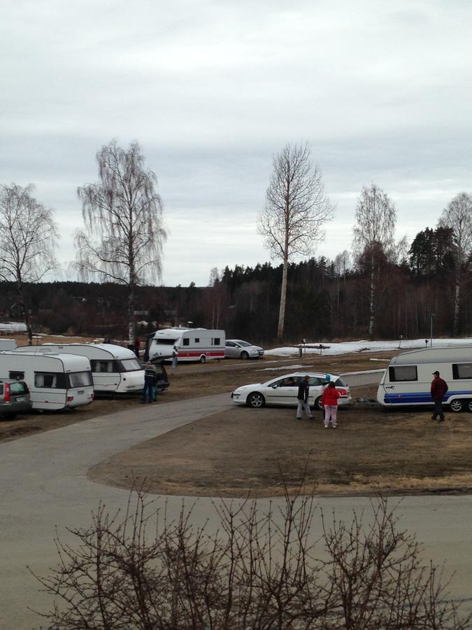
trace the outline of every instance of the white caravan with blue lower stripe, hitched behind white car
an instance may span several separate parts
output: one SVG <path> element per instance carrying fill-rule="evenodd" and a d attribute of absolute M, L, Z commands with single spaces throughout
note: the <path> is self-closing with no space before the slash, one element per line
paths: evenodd
<path fill-rule="evenodd" d="M 472 345 L 412 350 L 394 356 L 378 386 L 378 402 L 387 407 L 433 405 L 431 381 L 436 370 L 449 387 L 444 403 L 453 412 L 472 412 Z"/>

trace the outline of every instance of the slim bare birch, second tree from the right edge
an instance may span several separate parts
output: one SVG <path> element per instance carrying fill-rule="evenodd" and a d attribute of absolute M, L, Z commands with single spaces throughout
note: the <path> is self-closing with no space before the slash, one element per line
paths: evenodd
<path fill-rule="evenodd" d="M 369 260 L 369 339 L 373 338 L 376 324 L 378 290 L 378 253 L 392 253 L 396 224 L 396 210 L 393 202 L 375 184 L 362 189 L 356 207 L 353 249 L 357 258 L 361 255 Z"/>

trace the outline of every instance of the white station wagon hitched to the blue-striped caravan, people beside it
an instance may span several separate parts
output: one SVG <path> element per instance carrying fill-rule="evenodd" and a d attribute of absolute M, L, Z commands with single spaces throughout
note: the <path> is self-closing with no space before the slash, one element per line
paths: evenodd
<path fill-rule="evenodd" d="M 243 385 L 231 393 L 231 400 L 249 407 L 264 407 L 264 405 L 289 405 L 296 407 L 296 395 L 300 382 L 310 377 L 309 402 L 315 409 L 321 409 L 321 396 L 324 386 L 330 380 L 341 394 L 338 405 L 349 405 L 352 402 L 350 388 L 337 374 L 317 374 L 315 372 L 294 372 L 281 377 L 252 385 Z M 329 376 L 329 379 L 327 377 Z"/>

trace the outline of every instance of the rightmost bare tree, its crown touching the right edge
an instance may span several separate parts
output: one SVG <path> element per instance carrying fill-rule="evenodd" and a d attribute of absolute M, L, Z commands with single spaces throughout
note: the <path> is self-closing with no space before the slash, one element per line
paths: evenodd
<path fill-rule="evenodd" d="M 439 220 L 441 227 L 452 228 L 454 244 L 454 335 L 459 333 L 459 307 L 461 286 L 464 276 L 469 273 L 469 262 L 472 256 L 472 197 L 467 193 L 459 193 L 448 204 Z"/>

